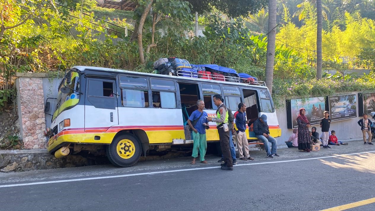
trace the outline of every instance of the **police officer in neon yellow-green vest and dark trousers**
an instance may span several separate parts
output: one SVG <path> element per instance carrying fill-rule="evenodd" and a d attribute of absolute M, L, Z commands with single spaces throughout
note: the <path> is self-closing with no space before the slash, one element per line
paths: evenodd
<path fill-rule="evenodd" d="M 228 126 L 228 111 L 222 102 L 220 94 L 213 96 L 213 102 L 217 106 L 217 118 L 208 117 L 208 121 L 216 122 L 217 132 L 219 132 L 220 147 L 224 156 L 225 163 L 221 164 L 222 170 L 233 170 L 233 161 L 231 152 L 229 150 L 229 126 Z"/>

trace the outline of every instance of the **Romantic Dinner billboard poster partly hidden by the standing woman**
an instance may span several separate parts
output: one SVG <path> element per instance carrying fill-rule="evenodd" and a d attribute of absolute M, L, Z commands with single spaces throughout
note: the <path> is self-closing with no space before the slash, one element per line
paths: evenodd
<path fill-rule="evenodd" d="M 288 103 L 289 104 L 289 103 Z M 296 119 L 301 108 L 305 108 L 306 117 L 311 125 L 320 124 L 320 120 L 324 117 L 323 112 L 326 108 L 324 97 L 310 97 L 305 99 L 290 100 L 288 106 L 288 128 L 297 128 Z"/>

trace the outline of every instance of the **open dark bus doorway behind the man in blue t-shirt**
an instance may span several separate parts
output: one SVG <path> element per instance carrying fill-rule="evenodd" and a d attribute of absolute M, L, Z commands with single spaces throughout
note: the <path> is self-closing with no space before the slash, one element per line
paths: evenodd
<path fill-rule="evenodd" d="M 182 121 L 184 124 L 185 139 L 192 140 L 187 120 L 193 111 L 198 109 L 196 102 L 200 99 L 199 87 L 198 84 L 185 82 L 178 82 L 178 87 L 180 90 L 181 112 L 183 117 Z"/>

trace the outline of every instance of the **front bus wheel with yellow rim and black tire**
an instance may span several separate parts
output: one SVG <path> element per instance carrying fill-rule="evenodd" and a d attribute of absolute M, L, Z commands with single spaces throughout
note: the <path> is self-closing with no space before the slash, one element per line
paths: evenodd
<path fill-rule="evenodd" d="M 127 133 L 117 136 L 107 146 L 108 160 L 118 167 L 129 167 L 134 165 L 141 157 L 141 142 L 134 135 Z"/>

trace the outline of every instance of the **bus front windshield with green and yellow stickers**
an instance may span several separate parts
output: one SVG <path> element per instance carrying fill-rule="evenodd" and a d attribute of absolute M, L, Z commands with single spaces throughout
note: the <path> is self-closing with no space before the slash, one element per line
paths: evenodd
<path fill-rule="evenodd" d="M 68 93 L 63 93 L 61 88 L 65 87 L 69 88 Z M 58 87 L 58 95 L 57 95 L 57 105 L 54 111 L 52 121 L 63 111 L 72 108 L 78 104 L 80 100 L 80 74 L 74 71 L 69 71 L 66 73 L 63 81 L 61 82 L 60 86 Z"/>

